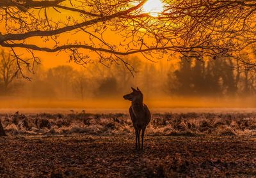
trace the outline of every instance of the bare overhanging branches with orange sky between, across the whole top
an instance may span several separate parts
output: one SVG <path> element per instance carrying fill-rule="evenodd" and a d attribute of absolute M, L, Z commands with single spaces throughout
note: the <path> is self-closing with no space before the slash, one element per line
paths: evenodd
<path fill-rule="evenodd" d="M 158 17 L 141 10 L 147 0 L 3 0 L 0 45 L 11 48 L 18 70 L 40 63 L 35 51 L 67 52 L 77 64 L 129 63 L 122 56 L 232 56 L 252 51 L 255 43 L 253 0 L 184 0 L 164 2 Z M 121 40 L 109 40 L 115 33 Z M 77 35 L 74 35 L 77 34 Z M 66 38 L 70 36 L 70 38 Z M 114 38 L 114 37 L 113 37 Z M 25 49 L 31 57 L 22 57 Z M 253 60 L 241 60 L 255 66 Z"/>

